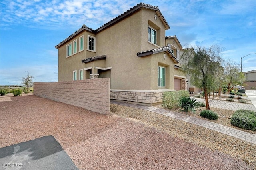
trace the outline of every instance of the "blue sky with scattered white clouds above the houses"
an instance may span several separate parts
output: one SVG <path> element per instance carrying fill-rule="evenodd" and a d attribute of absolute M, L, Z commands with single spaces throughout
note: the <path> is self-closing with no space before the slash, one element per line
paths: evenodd
<path fill-rule="evenodd" d="M 83 24 L 97 29 L 144 2 L 158 6 L 183 47 L 224 46 L 223 58 L 240 64 L 256 53 L 256 1 L 202 0 L 1 0 L 0 84 L 58 81 L 54 47 Z M 242 59 L 243 71 L 256 70 L 256 54 Z"/>

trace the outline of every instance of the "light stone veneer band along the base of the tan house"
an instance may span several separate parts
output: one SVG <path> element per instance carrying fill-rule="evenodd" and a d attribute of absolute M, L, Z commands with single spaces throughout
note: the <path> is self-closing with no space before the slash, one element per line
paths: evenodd
<path fill-rule="evenodd" d="M 175 90 L 110 90 L 110 99 L 153 104 L 162 102 L 166 91 Z"/>

